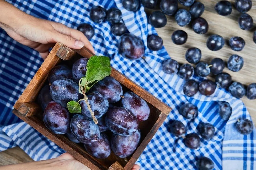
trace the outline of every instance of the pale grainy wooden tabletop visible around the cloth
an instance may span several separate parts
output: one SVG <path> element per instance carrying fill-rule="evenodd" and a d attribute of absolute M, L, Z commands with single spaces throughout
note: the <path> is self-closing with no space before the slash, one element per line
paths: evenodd
<path fill-rule="evenodd" d="M 252 40 L 252 34 L 253 31 L 255 31 L 255 24 L 251 31 L 242 30 L 239 28 L 237 22 L 240 13 L 236 11 L 234 7 L 232 14 L 225 17 L 218 15 L 214 10 L 214 6 L 218 1 L 201 0 L 200 2 L 205 5 L 205 11 L 201 17 L 205 18 L 209 24 L 209 31 L 206 34 L 196 34 L 189 25 L 186 27 L 180 27 L 175 22 L 174 17 L 170 16 L 167 16 L 168 22 L 165 27 L 156 29 L 159 36 L 163 38 L 164 46 L 169 55 L 179 63 L 188 63 L 185 60 L 186 50 L 190 47 L 197 47 L 202 51 L 201 61 L 209 63 L 211 59 L 215 57 L 227 61 L 232 54 L 238 54 L 244 58 L 245 62 L 243 68 L 239 72 L 232 72 L 225 68 L 224 72 L 229 73 L 234 81 L 241 82 L 244 85 L 256 82 L 256 44 Z M 230 2 L 234 4 L 234 0 Z M 184 6 L 180 7 L 188 9 Z M 146 12 L 151 12 L 151 10 L 146 9 Z M 252 16 L 254 23 L 256 23 L 256 0 L 253 0 L 252 9 L 248 14 Z M 170 38 L 172 33 L 178 29 L 184 30 L 188 34 L 188 40 L 184 45 L 175 45 Z M 219 34 L 225 40 L 229 40 L 232 36 L 240 36 L 245 40 L 246 45 L 240 52 L 233 51 L 227 43 L 221 50 L 211 51 L 206 47 L 206 40 L 211 34 Z M 213 80 L 211 76 L 208 78 Z M 250 112 L 254 124 L 256 124 L 256 100 L 249 100 L 246 97 L 243 97 L 242 100 Z M 19 147 L 0 152 L 0 165 L 30 161 L 33 160 Z"/>

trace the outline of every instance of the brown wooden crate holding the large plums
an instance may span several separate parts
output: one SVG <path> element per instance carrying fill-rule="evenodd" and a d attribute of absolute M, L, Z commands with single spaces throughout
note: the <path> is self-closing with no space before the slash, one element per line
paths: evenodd
<path fill-rule="evenodd" d="M 87 167 L 95 169 L 127 169 L 130 170 L 136 160 L 139 158 L 147 144 L 150 142 L 156 131 L 164 122 L 167 115 L 170 113 L 171 108 L 166 104 L 152 96 L 146 90 L 136 85 L 133 81 L 125 77 L 120 72 L 112 68 L 111 76 L 119 81 L 123 88 L 133 91 L 144 100 L 147 101 L 150 107 L 150 116 L 144 121 L 140 122 L 139 129 L 141 130 L 141 140 L 136 151 L 127 159 L 122 159 L 115 156 L 112 152 L 106 159 L 96 159 L 89 155 L 83 145 L 71 142 L 64 135 L 54 134 L 48 130 L 42 121 L 42 109 L 36 102 L 37 95 L 47 80 L 49 71 L 56 64 L 65 62 L 63 60 L 70 60 L 68 63 L 73 63 L 77 57 L 89 58 L 93 54 L 85 47 L 80 50 L 72 50 L 65 47 L 61 43 L 56 43 L 51 50 L 49 56 L 42 63 L 33 79 L 30 81 L 22 95 L 19 97 L 14 105 L 13 113 L 17 115 L 24 122 L 28 123 L 31 127 L 38 132 L 49 138 L 65 151 L 73 155 L 77 160 L 82 162 Z M 125 90 L 124 90 L 125 91 Z M 128 162 L 127 162 L 128 160 Z"/>

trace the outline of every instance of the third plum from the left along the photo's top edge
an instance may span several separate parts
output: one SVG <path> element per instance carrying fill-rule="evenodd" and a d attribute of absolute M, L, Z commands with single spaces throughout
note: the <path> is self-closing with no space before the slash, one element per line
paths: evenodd
<path fill-rule="evenodd" d="M 160 9 L 166 15 L 174 15 L 178 10 L 177 0 L 161 0 Z"/>

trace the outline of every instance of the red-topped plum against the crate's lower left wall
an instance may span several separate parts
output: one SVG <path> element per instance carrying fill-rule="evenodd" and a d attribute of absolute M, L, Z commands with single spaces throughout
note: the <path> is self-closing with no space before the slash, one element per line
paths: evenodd
<path fill-rule="evenodd" d="M 51 101 L 45 108 L 43 114 L 45 126 L 56 134 L 69 132 L 70 117 L 66 108 L 60 106 L 55 101 Z"/>

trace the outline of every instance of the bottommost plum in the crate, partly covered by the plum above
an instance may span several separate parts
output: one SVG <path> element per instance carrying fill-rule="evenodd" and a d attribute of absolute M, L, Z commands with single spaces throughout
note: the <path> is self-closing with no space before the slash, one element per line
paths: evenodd
<path fill-rule="evenodd" d="M 111 153 L 108 136 L 103 133 L 100 134 L 99 140 L 93 143 L 84 144 L 84 148 L 90 155 L 99 159 L 108 158 Z"/>

